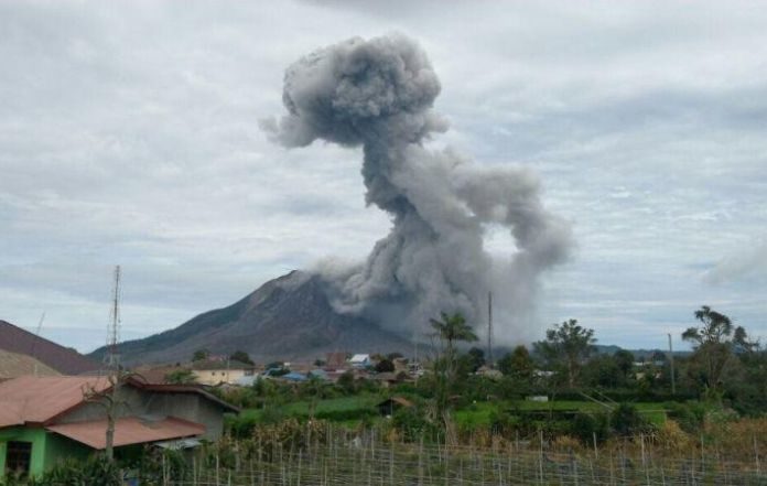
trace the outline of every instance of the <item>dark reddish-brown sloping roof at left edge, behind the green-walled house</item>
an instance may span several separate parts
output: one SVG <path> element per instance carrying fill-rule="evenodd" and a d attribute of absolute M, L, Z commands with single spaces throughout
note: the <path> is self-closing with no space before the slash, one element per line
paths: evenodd
<path fill-rule="evenodd" d="M 0 349 L 32 356 L 65 375 L 80 375 L 100 368 L 98 363 L 76 350 L 35 336 L 6 321 L 0 321 Z"/>

